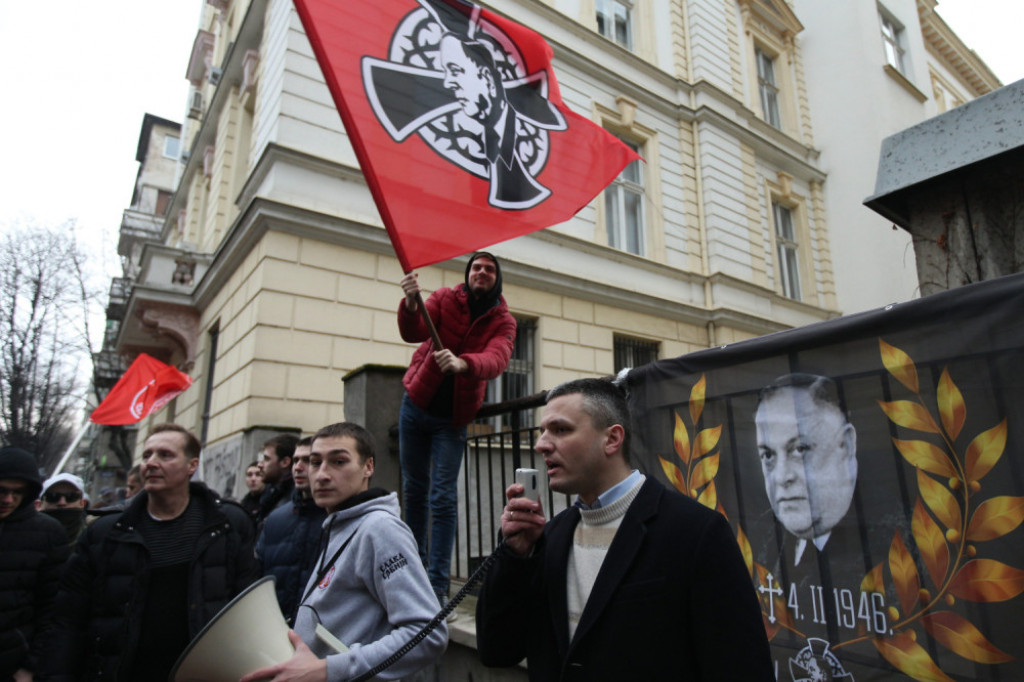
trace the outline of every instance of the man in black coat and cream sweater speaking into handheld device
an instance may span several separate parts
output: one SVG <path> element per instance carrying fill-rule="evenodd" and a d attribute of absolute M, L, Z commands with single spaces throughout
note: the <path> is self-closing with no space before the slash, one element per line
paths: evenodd
<path fill-rule="evenodd" d="M 632 469 L 629 409 L 611 382 L 548 393 L 537 452 L 577 504 L 546 523 L 513 483 L 504 543 L 477 602 L 485 666 L 529 679 L 774 680 L 728 522 Z"/>

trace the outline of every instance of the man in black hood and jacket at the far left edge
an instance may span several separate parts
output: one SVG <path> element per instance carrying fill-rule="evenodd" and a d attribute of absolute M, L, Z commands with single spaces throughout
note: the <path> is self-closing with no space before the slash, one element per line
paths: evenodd
<path fill-rule="evenodd" d="M 32 679 L 68 558 L 63 528 L 36 511 L 42 486 L 36 458 L 0 450 L 0 682 Z"/>

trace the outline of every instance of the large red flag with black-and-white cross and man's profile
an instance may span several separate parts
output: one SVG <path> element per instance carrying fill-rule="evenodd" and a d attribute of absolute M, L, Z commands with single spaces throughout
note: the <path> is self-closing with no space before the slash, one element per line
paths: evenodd
<path fill-rule="evenodd" d="M 535 31 L 464 0 L 295 0 L 404 270 L 571 218 L 638 157 Z"/>

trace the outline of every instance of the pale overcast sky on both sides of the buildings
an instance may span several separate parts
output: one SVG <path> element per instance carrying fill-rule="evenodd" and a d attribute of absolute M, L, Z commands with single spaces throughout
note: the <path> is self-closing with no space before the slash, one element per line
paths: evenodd
<path fill-rule="evenodd" d="M 0 0 L 0 228 L 77 219 L 119 273 L 142 116 L 183 120 L 204 2 Z M 941 0 L 938 11 L 1004 83 L 1024 78 L 1024 0 Z"/>

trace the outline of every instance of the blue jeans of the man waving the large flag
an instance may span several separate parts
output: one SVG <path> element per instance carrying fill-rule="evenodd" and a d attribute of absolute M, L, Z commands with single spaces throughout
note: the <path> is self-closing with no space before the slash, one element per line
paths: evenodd
<path fill-rule="evenodd" d="M 406 523 L 436 594 L 447 595 L 465 446 L 465 426 L 456 428 L 447 419 L 428 415 L 408 394 L 401 398 L 398 457 Z"/>

